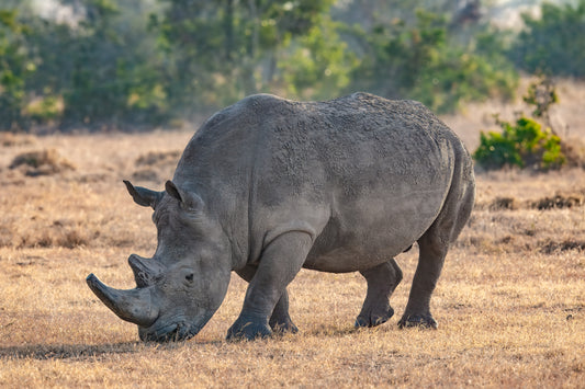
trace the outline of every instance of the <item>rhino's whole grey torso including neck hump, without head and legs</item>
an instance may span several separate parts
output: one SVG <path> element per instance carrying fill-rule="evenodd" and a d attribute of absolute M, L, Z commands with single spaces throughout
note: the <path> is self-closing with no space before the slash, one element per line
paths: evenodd
<path fill-rule="evenodd" d="M 303 230 L 314 239 L 305 267 L 350 272 L 428 229 L 458 158 L 469 158 L 461 141 L 420 103 L 254 95 L 198 130 L 173 180 L 209 203 L 243 261 Z"/>

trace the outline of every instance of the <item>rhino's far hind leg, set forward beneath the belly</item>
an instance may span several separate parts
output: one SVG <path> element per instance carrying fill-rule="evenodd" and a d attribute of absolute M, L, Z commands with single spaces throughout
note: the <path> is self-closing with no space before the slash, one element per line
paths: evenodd
<path fill-rule="evenodd" d="M 402 271 L 394 259 L 372 268 L 360 271 L 368 282 L 368 291 L 356 327 L 375 327 L 394 314 L 389 298 L 402 281 Z"/>

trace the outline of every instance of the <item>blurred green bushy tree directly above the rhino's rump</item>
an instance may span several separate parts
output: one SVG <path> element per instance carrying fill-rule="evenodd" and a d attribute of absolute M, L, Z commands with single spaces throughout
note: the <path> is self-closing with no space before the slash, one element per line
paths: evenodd
<path fill-rule="evenodd" d="M 449 39 L 445 16 L 419 11 L 408 25 L 395 20 L 363 32 L 367 50 L 353 78 L 376 94 L 418 100 L 440 113 L 488 96 L 509 98 L 517 76 L 495 55 Z"/>

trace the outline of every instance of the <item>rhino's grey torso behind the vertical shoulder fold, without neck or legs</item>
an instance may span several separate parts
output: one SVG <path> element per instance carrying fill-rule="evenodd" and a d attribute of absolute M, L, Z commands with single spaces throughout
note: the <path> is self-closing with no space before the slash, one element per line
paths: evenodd
<path fill-rule="evenodd" d="M 349 272 L 404 251 L 439 214 L 466 151 L 420 103 L 364 93 L 270 104 L 251 232 L 306 230 L 305 267 Z M 272 233 L 271 233 L 272 231 Z"/>

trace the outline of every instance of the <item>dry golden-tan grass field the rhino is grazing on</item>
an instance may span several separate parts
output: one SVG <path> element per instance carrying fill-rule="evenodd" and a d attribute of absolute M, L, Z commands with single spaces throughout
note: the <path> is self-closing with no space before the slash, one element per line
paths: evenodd
<path fill-rule="evenodd" d="M 560 84 L 561 135 L 585 139 L 584 90 Z M 514 110 L 445 121 L 472 150 L 491 113 Z M 198 336 L 139 342 L 86 276 L 135 286 L 126 260 L 150 256 L 156 230 L 122 180 L 161 190 L 193 130 L 0 135 L 1 387 L 585 387 L 582 168 L 477 172 L 475 209 L 431 300 L 438 331 L 396 325 L 415 245 L 396 259 L 396 314 L 378 328 L 353 329 L 361 275 L 302 271 L 289 287 L 299 334 L 227 343 L 246 291 L 234 274 Z"/>

